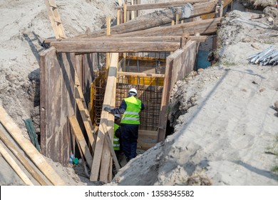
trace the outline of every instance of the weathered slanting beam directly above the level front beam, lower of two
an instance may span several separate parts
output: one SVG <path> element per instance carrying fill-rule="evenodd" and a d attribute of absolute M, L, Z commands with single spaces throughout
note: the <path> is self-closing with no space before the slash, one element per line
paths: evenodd
<path fill-rule="evenodd" d="M 217 26 L 221 23 L 222 18 L 206 19 L 201 21 L 192 21 L 174 26 L 163 26 L 147 29 L 143 31 L 134 31 L 131 33 L 120 34 L 118 36 L 181 36 L 188 32 L 190 35 L 200 33 L 202 35 L 215 34 Z"/>

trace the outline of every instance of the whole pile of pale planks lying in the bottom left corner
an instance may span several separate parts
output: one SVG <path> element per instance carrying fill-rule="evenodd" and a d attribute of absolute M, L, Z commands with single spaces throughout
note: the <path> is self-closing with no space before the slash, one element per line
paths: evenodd
<path fill-rule="evenodd" d="M 40 152 L 36 149 L 36 147 L 26 139 L 21 129 L 14 123 L 13 119 L 6 113 L 6 110 L 0 106 L 0 123 L 4 126 L 4 131 L 0 129 L 0 139 L 3 141 L 4 145 L 7 149 L 10 150 L 11 153 L 6 151 L 4 145 L 0 145 L 0 153 L 4 156 L 4 159 L 11 165 L 11 167 L 16 171 L 16 174 L 24 181 L 26 185 L 34 185 L 29 177 L 24 173 L 24 171 L 20 168 L 16 161 L 11 157 L 11 154 L 18 159 L 18 161 L 24 166 L 24 168 L 29 172 L 31 176 L 36 179 L 38 184 L 42 186 L 46 185 L 54 185 L 54 186 L 65 186 L 66 183 L 61 179 L 60 176 L 56 173 L 56 171 L 52 168 L 50 164 L 43 158 Z M 11 138 L 11 139 L 9 139 Z M 14 144 L 16 142 L 16 144 Z M 30 164 L 30 161 L 26 159 L 26 156 L 21 153 L 19 147 L 24 151 L 31 161 L 35 164 L 35 167 Z M 38 170 L 43 174 L 40 175 Z M 46 181 L 48 179 L 48 181 Z"/>

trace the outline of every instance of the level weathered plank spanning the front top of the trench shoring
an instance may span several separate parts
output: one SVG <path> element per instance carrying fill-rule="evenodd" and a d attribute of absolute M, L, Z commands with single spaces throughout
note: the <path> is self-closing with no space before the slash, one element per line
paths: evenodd
<path fill-rule="evenodd" d="M 57 52 L 91 53 L 91 52 L 158 52 L 175 51 L 180 48 L 179 42 L 151 41 L 53 41 L 51 46 Z"/>

